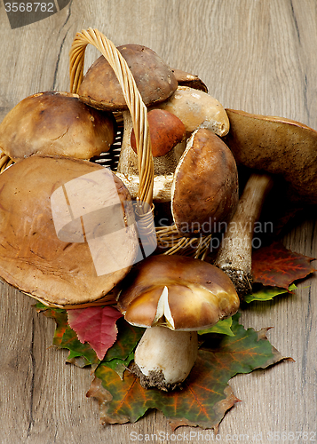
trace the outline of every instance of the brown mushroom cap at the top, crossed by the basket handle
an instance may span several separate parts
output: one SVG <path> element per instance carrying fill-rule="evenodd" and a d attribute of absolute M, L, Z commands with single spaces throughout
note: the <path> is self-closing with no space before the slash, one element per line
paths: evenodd
<path fill-rule="evenodd" d="M 125 44 L 117 49 L 126 59 L 147 106 L 168 99 L 178 87 L 170 67 L 146 46 Z M 88 69 L 78 94 L 91 107 L 110 111 L 127 109 L 120 83 L 104 56 L 100 56 Z"/>

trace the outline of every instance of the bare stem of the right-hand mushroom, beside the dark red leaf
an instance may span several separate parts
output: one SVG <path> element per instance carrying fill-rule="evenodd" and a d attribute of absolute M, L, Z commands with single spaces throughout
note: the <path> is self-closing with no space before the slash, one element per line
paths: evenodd
<path fill-rule="evenodd" d="M 215 266 L 230 277 L 241 298 L 252 290 L 253 230 L 272 186 L 271 176 L 251 174 L 218 250 Z"/>

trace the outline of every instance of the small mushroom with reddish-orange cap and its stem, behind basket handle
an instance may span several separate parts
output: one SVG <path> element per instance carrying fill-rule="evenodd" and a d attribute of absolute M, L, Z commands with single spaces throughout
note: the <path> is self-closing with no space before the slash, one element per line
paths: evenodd
<path fill-rule="evenodd" d="M 151 138 L 151 147 L 155 175 L 171 174 L 175 171 L 180 156 L 186 147 L 185 125 L 176 115 L 162 109 L 152 109 L 147 113 L 147 121 Z M 130 163 L 131 172 L 138 174 L 137 146 L 134 130 L 131 132 L 131 148 L 135 156 L 131 154 L 130 162 L 135 157 L 134 168 Z"/>

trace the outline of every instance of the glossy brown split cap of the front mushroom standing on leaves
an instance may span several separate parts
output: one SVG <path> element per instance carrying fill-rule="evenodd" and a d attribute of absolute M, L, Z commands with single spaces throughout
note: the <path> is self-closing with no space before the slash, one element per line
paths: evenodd
<path fill-rule="evenodd" d="M 118 306 L 126 321 L 140 327 L 206 329 L 236 313 L 239 297 L 216 266 L 184 256 L 145 259 L 125 282 Z"/>

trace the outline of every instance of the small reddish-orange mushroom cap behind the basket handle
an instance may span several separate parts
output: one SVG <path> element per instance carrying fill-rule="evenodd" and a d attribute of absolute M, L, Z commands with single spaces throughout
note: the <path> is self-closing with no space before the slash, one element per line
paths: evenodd
<path fill-rule="evenodd" d="M 186 137 L 184 123 L 176 115 L 163 109 L 151 109 L 147 113 L 147 121 L 151 138 L 152 155 L 161 157 Z M 134 130 L 131 132 L 131 147 L 137 154 Z"/>

